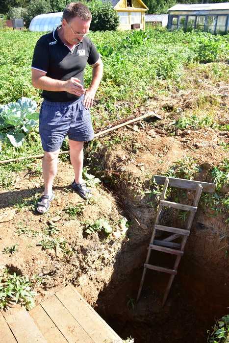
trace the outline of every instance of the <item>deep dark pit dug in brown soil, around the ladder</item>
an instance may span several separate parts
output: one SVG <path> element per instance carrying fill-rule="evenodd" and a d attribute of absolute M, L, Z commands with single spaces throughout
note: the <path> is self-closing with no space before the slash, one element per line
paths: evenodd
<path fill-rule="evenodd" d="M 126 214 L 130 214 L 129 208 L 128 203 L 127 209 L 124 208 Z M 215 320 L 228 314 L 228 261 L 221 248 L 220 232 L 215 230 L 217 220 L 218 224 L 221 220 L 210 222 L 203 213 L 198 216 L 202 223 L 200 225 L 199 217 L 193 222 L 192 234 L 164 307 L 161 303 L 169 275 L 153 270 L 147 270 L 142 294 L 136 303 L 150 238 L 143 235 L 139 240 L 138 235 L 138 242 L 132 242 L 132 251 L 128 248 L 128 253 L 125 247 L 121 248 L 117 268 L 114 266 L 109 284 L 100 292 L 96 310 L 122 339 L 132 337 L 135 343 L 203 343 L 207 342 L 207 330 L 212 332 Z M 225 223 L 221 225 L 224 227 Z M 172 218 L 171 226 L 179 227 L 177 218 Z M 149 229 L 149 237 L 150 232 Z M 129 237 L 132 234 L 128 232 Z M 172 268 L 174 256 L 162 254 L 153 251 L 150 263 Z M 129 258 L 129 263 L 124 263 L 128 269 L 126 279 L 123 277 L 119 282 L 120 260 L 126 256 Z"/>

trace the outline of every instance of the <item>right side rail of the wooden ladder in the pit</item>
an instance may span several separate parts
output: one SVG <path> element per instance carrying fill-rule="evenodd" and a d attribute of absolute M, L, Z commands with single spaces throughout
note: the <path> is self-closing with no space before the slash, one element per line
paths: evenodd
<path fill-rule="evenodd" d="M 202 185 L 198 184 L 197 190 L 196 190 L 196 194 L 195 194 L 195 198 L 194 198 L 194 201 L 193 201 L 193 206 L 198 206 L 199 201 L 200 201 L 200 197 L 201 197 L 201 194 L 202 194 L 202 190 L 203 190 Z M 189 231 L 191 229 L 194 217 L 195 217 L 195 212 L 191 212 L 190 215 L 189 215 L 189 218 L 188 218 L 188 222 L 187 222 L 187 229 Z M 183 236 L 183 239 L 181 241 L 181 247 L 180 247 L 181 251 L 184 250 L 184 247 L 186 245 L 187 239 L 188 239 L 188 236 Z M 174 268 L 173 268 L 174 270 L 178 270 L 178 266 L 179 266 L 180 260 L 181 260 L 181 256 L 177 256 L 175 264 L 174 264 Z M 171 289 L 174 277 L 175 277 L 175 275 L 171 275 L 170 278 L 169 278 L 169 282 L 168 282 L 168 285 L 166 287 L 166 291 L 165 291 L 165 294 L 164 294 L 164 297 L 163 297 L 162 306 L 164 306 L 164 304 L 166 302 L 166 299 L 167 299 L 169 291 Z"/>

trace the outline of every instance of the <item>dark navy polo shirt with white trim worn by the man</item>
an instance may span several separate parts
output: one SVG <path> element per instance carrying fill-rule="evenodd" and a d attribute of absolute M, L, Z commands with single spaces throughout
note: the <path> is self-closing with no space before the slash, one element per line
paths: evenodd
<path fill-rule="evenodd" d="M 93 65 L 99 60 L 92 41 L 85 36 L 71 51 L 59 38 L 58 31 L 42 36 L 36 43 L 32 68 L 46 73 L 53 79 L 67 81 L 71 77 L 77 77 L 83 85 L 83 72 L 87 65 Z M 43 98 L 48 101 L 71 101 L 79 97 L 68 92 L 42 92 Z"/>

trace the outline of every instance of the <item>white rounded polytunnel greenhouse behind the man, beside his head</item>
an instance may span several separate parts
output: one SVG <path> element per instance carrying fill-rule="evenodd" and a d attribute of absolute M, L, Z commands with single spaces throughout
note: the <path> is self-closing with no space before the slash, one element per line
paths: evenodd
<path fill-rule="evenodd" d="M 63 12 L 39 14 L 31 20 L 29 31 L 53 31 L 60 25 Z"/>

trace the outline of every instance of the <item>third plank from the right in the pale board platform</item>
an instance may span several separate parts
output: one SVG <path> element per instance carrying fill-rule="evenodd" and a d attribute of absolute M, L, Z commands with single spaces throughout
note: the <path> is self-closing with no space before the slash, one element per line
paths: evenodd
<path fill-rule="evenodd" d="M 48 342 L 67 342 L 41 305 L 34 307 L 29 312 L 29 315 L 33 318 L 35 324 Z"/>

